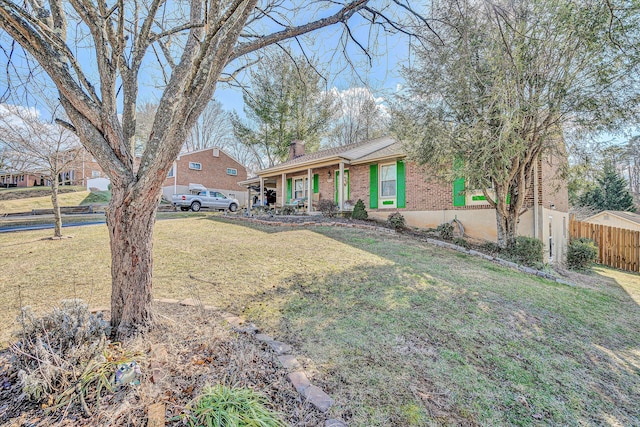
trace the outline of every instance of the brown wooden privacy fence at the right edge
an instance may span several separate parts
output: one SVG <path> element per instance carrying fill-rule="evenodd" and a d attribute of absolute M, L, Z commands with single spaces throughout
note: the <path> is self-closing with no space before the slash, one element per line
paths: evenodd
<path fill-rule="evenodd" d="M 640 272 L 640 231 L 569 219 L 572 239 L 588 237 L 598 245 L 598 263 Z"/>

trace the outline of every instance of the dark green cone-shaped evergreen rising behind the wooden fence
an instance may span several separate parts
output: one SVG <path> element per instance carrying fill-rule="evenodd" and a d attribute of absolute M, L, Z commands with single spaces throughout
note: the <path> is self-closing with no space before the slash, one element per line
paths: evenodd
<path fill-rule="evenodd" d="M 636 211 L 627 181 L 616 172 L 611 162 L 605 163 L 596 186 L 580 196 L 578 205 L 598 211 Z"/>

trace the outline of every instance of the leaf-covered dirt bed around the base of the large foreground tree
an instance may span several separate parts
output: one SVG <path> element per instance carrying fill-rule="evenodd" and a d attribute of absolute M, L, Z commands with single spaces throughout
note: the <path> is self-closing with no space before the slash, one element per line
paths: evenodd
<path fill-rule="evenodd" d="M 184 425 L 180 414 L 188 403 L 203 387 L 215 384 L 258 391 L 289 425 L 324 423 L 326 416 L 303 401 L 275 354 L 253 337 L 233 332 L 220 313 L 157 304 L 156 314 L 153 332 L 123 344 L 139 354 L 140 384 L 103 392 L 89 417 L 77 402 L 53 413 L 45 411 L 42 402 L 30 402 L 22 395 L 10 351 L 0 353 L 0 424 L 145 426 L 149 408 L 162 403 L 166 425 Z"/>

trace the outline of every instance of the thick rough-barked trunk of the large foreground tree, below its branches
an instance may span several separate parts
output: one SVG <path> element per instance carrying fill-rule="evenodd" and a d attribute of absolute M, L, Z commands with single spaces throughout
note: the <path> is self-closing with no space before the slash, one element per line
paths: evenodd
<path fill-rule="evenodd" d="M 106 212 L 111 244 L 111 327 L 116 338 L 152 326 L 153 226 L 160 189 L 112 187 Z"/>

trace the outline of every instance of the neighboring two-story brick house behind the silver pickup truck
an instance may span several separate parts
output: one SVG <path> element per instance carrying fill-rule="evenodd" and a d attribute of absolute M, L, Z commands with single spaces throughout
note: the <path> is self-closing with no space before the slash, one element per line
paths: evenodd
<path fill-rule="evenodd" d="M 171 200 L 173 194 L 188 193 L 190 189 L 208 188 L 247 204 L 247 189 L 238 184 L 247 179 L 247 169 L 220 148 L 182 153 L 173 163 L 165 179 L 162 195 Z"/>

